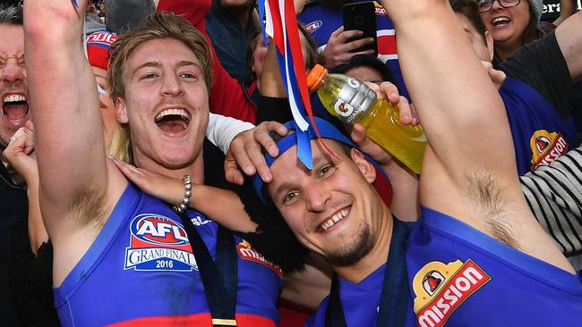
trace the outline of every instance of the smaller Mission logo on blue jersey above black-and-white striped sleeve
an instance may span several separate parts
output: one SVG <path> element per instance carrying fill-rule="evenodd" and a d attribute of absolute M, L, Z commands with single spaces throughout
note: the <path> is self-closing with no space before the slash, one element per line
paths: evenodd
<path fill-rule="evenodd" d="M 540 165 L 552 164 L 568 151 L 568 141 L 560 133 L 535 130 L 529 139 L 532 148 L 532 171 Z"/>

